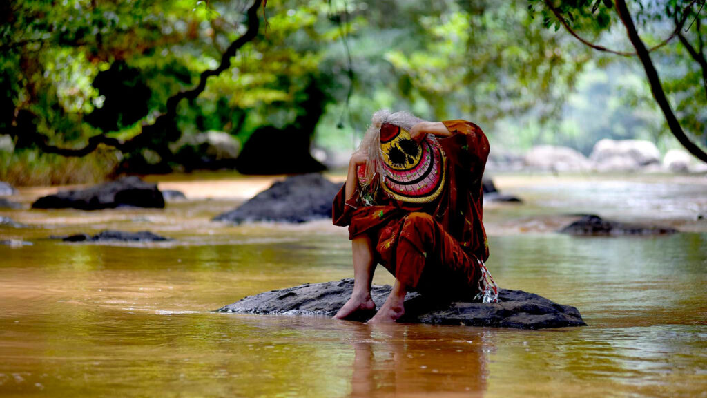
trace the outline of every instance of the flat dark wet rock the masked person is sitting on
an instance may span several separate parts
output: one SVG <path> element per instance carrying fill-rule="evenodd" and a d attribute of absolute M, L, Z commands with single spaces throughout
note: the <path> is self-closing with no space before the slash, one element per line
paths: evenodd
<path fill-rule="evenodd" d="M 250 314 L 323 315 L 331 317 L 349 300 L 353 279 L 305 284 L 294 288 L 271 290 L 245 297 L 218 312 Z M 371 296 L 376 306 L 385 302 L 391 287 L 373 286 Z M 521 290 L 499 291 L 500 302 L 433 302 L 417 293 L 405 298 L 405 315 L 399 322 L 423 324 L 464 324 L 467 326 L 501 326 L 518 329 L 546 329 L 585 326 L 575 307 L 559 305 L 544 297 Z M 373 312 L 358 314 L 366 320 Z"/>

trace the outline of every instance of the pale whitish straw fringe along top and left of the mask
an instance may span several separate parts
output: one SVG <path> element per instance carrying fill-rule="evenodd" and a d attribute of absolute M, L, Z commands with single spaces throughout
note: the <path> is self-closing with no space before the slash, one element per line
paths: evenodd
<path fill-rule="evenodd" d="M 371 193 L 378 191 L 378 188 L 382 186 L 383 178 L 385 178 L 383 175 L 385 173 L 385 169 L 383 169 L 383 154 L 380 150 L 380 126 L 383 123 L 390 123 L 410 131 L 414 125 L 425 121 L 426 120 L 418 118 L 404 110 L 391 113 L 390 110 L 381 109 L 373 113 L 373 117 L 370 118 L 368 130 L 366 130 L 366 135 L 363 136 L 361 145 L 359 145 L 356 150 L 356 152 L 364 151 L 368 153 L 368 161 L 366 161 L 366 181 L 361 181 L 361 183 L 363 186 L 368 186 Z M 434 136 L 427 135 L 426 139 L 434 140 Z"/>

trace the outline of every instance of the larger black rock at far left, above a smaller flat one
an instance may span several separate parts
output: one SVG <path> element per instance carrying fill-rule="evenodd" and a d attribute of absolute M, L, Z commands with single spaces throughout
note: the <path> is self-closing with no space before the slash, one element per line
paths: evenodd
<path fill-rule="evenodd" d="M 123 177 L 76 191 L 62 191 L 37 199 L 35 209 L 81 210 L 110 209 L 119 206 L 165 207 L 165 198 L 156 184 L 146 183 L 136 176 Z"/>

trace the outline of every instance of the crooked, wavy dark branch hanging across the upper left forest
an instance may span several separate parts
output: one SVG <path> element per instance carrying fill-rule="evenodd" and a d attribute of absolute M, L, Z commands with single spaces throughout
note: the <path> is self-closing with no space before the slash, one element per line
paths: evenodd
<path fill-rule="evenodd" d="M 108 137 L 107 135 L 94 135 L 88 138 L 88 143 L 82 148 L 62 148 L 56 147 L 48 143 L 48 138 L 42 133 L 34 131 L 30 132 L 33 136 L 33 141 L 37 143 L 42 152 L 59 154 L 65 157 L 83 157 L 91 152 L 95 151 L 100 144 L 107 145 L 109 147 L 115 147 L 120 151 L 129 151 L 136 149 L 146 144 L 153 139 L 160 131 L 165 131 L 170 129 L 175 125 L 175 119 L 177 117 L 177 106 L 183 99 L 194 99 L 201 94 L 201 92 L 206 89 L 206 80 L 211 76 L 218 76 L 221 72 L 230 68 L 230 59 L 235 56 L 235 53 L 243 47 L 247 42 L 255 39 L 258 33 L 258 28 L 260 21 L 258 19 L 257 11 L 260 7 L 261 0 L 255 0 L 248 8 L 248 28 L 235 41 L 231 42 L 226 52 L 221 56 L 221 64 L 218 65 L 216 69 L 207 69 L 201 72 L 199 76 L 199 83 L 193 89 L 184 90 L 176 93 L 167 100 L 167 112 L 160 114 L 155 122 L 151 125 L 143 125 L 141 132 L 138 135 L 132 137 L 130 140 L 122 141 L 114 137 Z M 26 132 L 25 132 L 26 133 Z"/>

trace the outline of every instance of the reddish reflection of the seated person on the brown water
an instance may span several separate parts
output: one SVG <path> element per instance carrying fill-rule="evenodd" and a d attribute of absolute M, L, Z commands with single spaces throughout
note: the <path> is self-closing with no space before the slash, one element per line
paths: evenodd
<path fill-rule="evenodd" d="M 357 326 L 351 346 L 351 397 L 481 397 L 489 375 L 492 333 L 473 328 Z M 450 333 L 451 332 L 451 333 Z"/>

